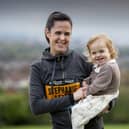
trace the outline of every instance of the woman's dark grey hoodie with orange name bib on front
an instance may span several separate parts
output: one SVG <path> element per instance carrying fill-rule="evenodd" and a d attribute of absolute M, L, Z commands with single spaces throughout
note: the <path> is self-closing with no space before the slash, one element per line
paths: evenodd
<path fill-rule="evenodd" d="M 74 51 L 52 56 L 50 49 L 45 49 L 41 60 L 31 66 L 32 112 L 36 115 L 49 112 L 53 129 L 72 129 L 69 111 L 74 104 L 72 93 L 78 88 L 76 84 L 81 84 L 91 70 L 92 65 L 86 58 Z"/>

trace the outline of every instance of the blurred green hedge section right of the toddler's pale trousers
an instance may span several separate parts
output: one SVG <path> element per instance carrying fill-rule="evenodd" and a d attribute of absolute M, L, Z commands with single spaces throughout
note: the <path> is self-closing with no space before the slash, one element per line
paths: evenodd
<path fill-rule="evenodd" d="M 120 95 L 116 106 L 110 113 L 104 115 L 105 122 L 129 123 L 129 86 L 120 87 Z"/>

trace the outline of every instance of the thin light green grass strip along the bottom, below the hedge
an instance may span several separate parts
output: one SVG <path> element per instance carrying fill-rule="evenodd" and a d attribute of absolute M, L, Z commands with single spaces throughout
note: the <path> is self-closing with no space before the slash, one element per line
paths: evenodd
<path fill-rule="evenodd" d="M 6 126 L 1 129 L 51 129 L 50 126 Z M 129 124 L 105 125 L 104 129 L 129 129 Z"/>

